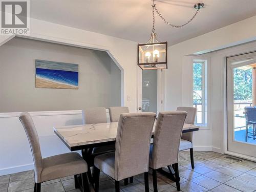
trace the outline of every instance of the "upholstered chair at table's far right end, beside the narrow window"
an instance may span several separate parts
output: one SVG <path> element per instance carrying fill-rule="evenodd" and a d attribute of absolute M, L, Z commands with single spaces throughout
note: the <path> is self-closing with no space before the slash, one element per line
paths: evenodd
<path fill-rule="evenodd" d="M 192 106 L 178 106 L 177 111 L 187 112 L 187 117 L 185 123 L 195 124 L 197 108 Z M 180 151 L 189 150 L 190 151 L 190 162 L 191 167 L 195 168 L 194 165 L 194 155 L 193 155 L 193 132 L 183 133 L 180 141 Z"/>

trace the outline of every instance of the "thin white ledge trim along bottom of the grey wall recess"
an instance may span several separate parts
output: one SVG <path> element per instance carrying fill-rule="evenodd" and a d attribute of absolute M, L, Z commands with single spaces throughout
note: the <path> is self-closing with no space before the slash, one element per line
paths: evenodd
<path fill-rule="evenodd" d="M 0 118 L 7 117 L 19 117 L 22 112 L 13 112 L 13 113 L 0 113 Z M 109 113 L 109 109 L 106 109 L 106 113 Z M 72 110 L 72 111 L 38 111 L 38 112 L 29 112 L 33 116 L 52 116 L 52 115 L 79 115 L 82 114 L 82 110 Z"/>

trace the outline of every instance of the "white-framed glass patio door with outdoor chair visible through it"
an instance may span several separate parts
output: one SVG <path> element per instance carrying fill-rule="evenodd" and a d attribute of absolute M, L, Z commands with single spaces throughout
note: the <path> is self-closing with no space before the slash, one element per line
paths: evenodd
<path fill-rule="evenodd" d="M 256 52 L 228 57 L 226 69 L 227 151 L 256 158 Z"/>

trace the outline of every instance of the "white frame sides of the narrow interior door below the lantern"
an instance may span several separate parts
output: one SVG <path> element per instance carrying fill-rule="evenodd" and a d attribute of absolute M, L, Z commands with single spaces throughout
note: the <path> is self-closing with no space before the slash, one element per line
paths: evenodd
<path fill-rule="evenodd" d="M 157 70 L 157 113 L 164 111 L 164 100 L 165 100 L 165 71 Z M 142 69 L 138 67 L 138 100 L 137 100 L 137 112 L 142 103 Z"/>

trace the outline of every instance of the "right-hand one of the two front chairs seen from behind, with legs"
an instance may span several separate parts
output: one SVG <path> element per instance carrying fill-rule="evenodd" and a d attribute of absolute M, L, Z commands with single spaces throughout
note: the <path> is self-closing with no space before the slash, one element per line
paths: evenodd
<path fill-rule="evenodd" d="M 154 143 L 150 147 L 149 167 L 153 169 L 153 187 L 157 192 L 157 169 L 172 165 L 175 172 L 177 190 L 180 190 L 179 180 L 179 148 L 182 129 L 187 112 L 160 112 L 154 132 Z"/>

